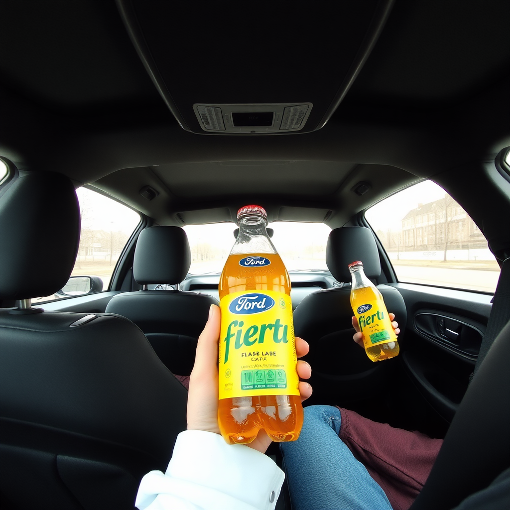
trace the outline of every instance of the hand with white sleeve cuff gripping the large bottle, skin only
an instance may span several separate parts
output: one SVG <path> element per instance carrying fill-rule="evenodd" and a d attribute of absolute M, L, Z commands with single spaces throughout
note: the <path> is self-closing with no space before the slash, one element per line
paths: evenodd
<path fill-rule="evenodd" d="M 209 320 L 203 329 L 196 348 L 195 365 L 190 376 L 188 394 L 188 430 L 206 430 L 220 433 L 218 426 L 218 340 L 220 334 L 220 309 L 211 305 Z M 308 343 L 296 337 L 297 357 L 308 353 Z M 308 379 L 312 373 L 305 361 L 297 362 L 297 373 L 301 379 Z M 301 401 L 312 395 L 308 382 L 299 382 Z M 271 439 L 264 430 L 247 446 L 264 453 Z"/>

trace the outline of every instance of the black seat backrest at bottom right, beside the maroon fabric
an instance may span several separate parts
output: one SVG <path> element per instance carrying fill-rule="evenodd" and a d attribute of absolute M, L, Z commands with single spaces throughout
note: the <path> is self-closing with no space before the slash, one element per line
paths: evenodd
<path fill-rule="evenodd" d="M 510 468 L 510 322 L 495 338 L 453 417 L 411 510 L 450 510 Z M 508 487 L 508 473 L 506 473 Z M 508 489 L 506 489 L 508 494 Z M 507 499 L 506 499 L 507 500 Z M 469 508 L 502 508 L 479 502 Z"/>

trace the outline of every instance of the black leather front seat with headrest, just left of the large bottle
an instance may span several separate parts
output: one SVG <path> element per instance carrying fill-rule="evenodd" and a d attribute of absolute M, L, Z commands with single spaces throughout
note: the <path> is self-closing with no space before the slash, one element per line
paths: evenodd
<path fill-rule="evenodd" d="M 186 233 L 176 226 L 145 228 L 138 238 L 133 276 L 138 284 L 177 288 L 191 264 Z M 127 317 L 145 333 L 161 361 L 174 374 L 189 375 L 198 336 L 214 297 L 180 290 L 141 290 L 113 297 L 107 312 Z"/>

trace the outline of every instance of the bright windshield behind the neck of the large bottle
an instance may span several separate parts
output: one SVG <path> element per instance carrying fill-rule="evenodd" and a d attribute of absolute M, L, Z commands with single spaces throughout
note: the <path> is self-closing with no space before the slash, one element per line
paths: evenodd
<path fill-rule="evenodd" d="M 192 274 L 220 273 L 234 245 L 235 223 L 186 225 L 191 248 Z M 288 271 L 327 271 L 326 243 L 331 229 L 324 223 L 276 221 L 270 223 L 272 243 Z"/>

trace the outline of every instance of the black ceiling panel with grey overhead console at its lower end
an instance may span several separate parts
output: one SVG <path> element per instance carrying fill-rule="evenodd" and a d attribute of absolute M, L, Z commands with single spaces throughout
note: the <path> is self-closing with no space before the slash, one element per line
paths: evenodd
<path fill-rule="evenodd" d="M 240 136 L 323 127 L 393 5 L 116 1 L 145 69 L 183 129 Z"/>

